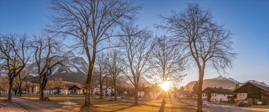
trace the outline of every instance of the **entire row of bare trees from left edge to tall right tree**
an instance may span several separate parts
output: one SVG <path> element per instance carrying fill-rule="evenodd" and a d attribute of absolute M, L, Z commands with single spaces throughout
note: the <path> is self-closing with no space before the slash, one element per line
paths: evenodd
<path fill-rule="evenodd" d="M 172 11 L 168 16 L 159 15 L 161 24 L 154 26 L 162 36 L 154 35 L 149 29 L 140 30 L 133 23 L 142 6 L 134 6 L 129 1 L 51 1 L 50 5 L 54 13 L 50 17 L 52 24 L 48 25 L 46 32 L 51 35 L 35 35 L 32 44 L 38 67 L 40 100 L 43 99 L 47 77 L 65 59 L 58 54 L 61 47 L 54 38 L 56 36 L 74 38 L 77 43 L 71 48 L 82 49 L 87 57 L 89 66 L 85 106 L 92 105 L 90 88 L 95 70 L 99 74 L 101 88 L 107 77 L 103 74 L 109 74 L 113 82 L 116 82 L 119 74 L 127 76 L 134 85 L 135 104 L 138 104 L 139 80 L 142 75 L 160 83 L 173 81 L 176 85 L 185 76 L 186 67 L 194 64 L 199 70 L 197 111 L 202 111 L 202 85 L 206 65 L 219 74 L 226 73 L 236 56 L 232 52 L 230 31 L 213 21 L 210 9 L 204 10 L 198 4 L 188 4 L 183 11 Z M 14 38 L 13 35 L 1 37 L 1 62 L 6 62 L 3 67 L 9 71 L 12 87 L 14 78 L 30 59 L 29 53 L 25 53 L 28 48 L 28 44 L 25 44 L 27 35 L 19 35 L 19 38 Z M 105 50 L 111 50 L 111 53 L 103 63 L 101 60 L 105 58 L 101 52 Z M 54 60 L 57 57 L 62 60 Z M 116 91 L 116 83 L 113 85 Z"/>

